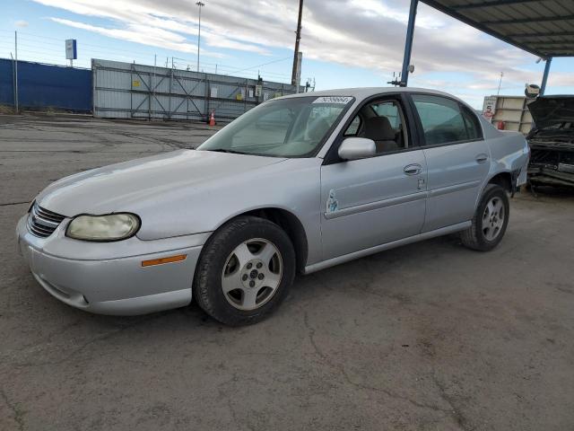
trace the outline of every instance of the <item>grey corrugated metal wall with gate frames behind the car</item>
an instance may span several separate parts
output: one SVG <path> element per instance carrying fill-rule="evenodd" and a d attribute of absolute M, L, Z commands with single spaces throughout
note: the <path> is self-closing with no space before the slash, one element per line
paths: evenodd
<path fill-rule="evenodd" d="M 260 101 L 292 94 L 295 86 L 92 59 L 93 115 L 112 119 L 236 119 Z M 302 87 L 300 88 L 302 91 Z"/>

